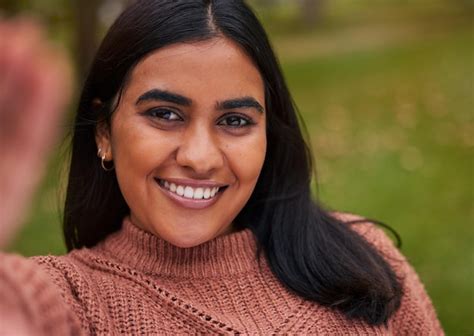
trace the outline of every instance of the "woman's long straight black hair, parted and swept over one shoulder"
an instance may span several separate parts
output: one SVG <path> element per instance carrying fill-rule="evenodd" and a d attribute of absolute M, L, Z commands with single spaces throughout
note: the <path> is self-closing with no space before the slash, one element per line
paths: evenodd
<path fill-rule="evenodd" d="M 138 0 L 104 38 L 75 120 L 63 231 L 68 250 L 118 230 L 129 207 L 116 176 L 96 159 L 95 130 L 110 123 L 133 67 L 154 50 L 224 37 L 253 60 L 265 85 L 267 154 L 257 186 L 235 219 L 250 228 L 275 276 L 298 295 L 372 325 L 398 309 L 402 288 L 382 256 L 312 200 L 311 152 L 266 33 L 241 0 Z"/>

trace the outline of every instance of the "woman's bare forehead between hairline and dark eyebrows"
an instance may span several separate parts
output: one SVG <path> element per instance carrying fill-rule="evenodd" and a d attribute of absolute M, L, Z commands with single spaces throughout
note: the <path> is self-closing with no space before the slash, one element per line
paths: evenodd
<path fill-rule="evenodd" d="M 238 45 L 224 38 L 154 51 L 136 65 L 127 86 L 135 95 L 161 88 L 197 97 L 252 95 L 264 103 L 258 69 Z"/>

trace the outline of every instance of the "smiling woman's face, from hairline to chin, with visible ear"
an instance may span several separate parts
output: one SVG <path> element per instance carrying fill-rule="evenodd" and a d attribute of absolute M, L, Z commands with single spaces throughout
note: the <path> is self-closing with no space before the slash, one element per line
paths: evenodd
<path fill-rule="evenodd" d="M 227 39 L 145 57 L 96 137 L 132 221 L 179 247 L 229 233 L 263 166 L 264 102 L 259 71 Z"/>

